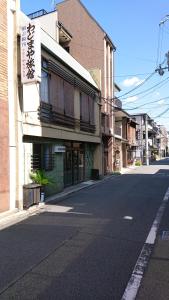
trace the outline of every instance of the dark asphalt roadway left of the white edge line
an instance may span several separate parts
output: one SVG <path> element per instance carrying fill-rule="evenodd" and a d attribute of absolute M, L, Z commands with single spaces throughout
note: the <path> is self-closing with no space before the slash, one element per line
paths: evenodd
<path fill-rule="evenodd" d="M 0 231 L 0 299 L 121 299 L 168 186 L 166 159 Z"/>

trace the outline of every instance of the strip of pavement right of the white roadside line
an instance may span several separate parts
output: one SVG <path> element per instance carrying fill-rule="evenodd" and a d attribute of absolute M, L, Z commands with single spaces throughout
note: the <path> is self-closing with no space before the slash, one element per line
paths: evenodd
<path fill-rule="evenodd" d="M 169 203 L 136 299 L 169 299 Z"/>

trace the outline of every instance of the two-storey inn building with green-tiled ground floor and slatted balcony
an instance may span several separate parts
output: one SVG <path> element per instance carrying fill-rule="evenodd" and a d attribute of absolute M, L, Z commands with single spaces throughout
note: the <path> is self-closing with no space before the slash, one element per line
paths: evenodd
<path fill-rule="evenodd" d="M 102 174 L 100 91 L 90 73 L 59 45 L 57 27 L 54 26 L 57 12 L 51 13 L 54 24 L 51 22 L 49 26 L 47 22 L 47 27 L 44 18 L 49 16 L 45 13 L 30 20 L 20 13 L 19 28 L 34 28 L 38 24 L 41 27 L 39 79 L 24 82 L 23 67 L 18 64 L 18 76 L 21 75 L 20 135 L 23 140 L 20 183 L 22 187 L 29 184 L 32 171 L 44 170 L 53 181 L 46 188 L 47 196 L 91 179 L 92 170 Z M 51 32 L 52 24 L 55 32 Z M 21 52 L 22 40 L 23 35 Z M 22 64 L 22 56 L 20 61 Z M 29 68 L 26 73 L 27 77 L 32 74 Z"/>

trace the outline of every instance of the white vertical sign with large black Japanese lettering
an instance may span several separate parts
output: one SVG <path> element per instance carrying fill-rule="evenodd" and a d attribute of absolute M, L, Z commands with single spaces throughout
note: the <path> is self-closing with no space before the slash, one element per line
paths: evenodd
<path fill-rule="evenodd" d="M 31 21 L 21 27 L 21 81 L 31 83 L 41 77 L 40 25 Z"/>

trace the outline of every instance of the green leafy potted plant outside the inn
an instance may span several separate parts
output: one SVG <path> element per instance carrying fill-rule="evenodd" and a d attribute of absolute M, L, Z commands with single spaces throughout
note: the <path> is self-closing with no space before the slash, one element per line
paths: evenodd
<path fill-rule="evenodd" d="M 40 201 L 44 202 L 45 199 L 45 186 L 49 184 L 53 184 L 52 179 L 47 176 L 44 170 L 36 170 L 30 174 L 30 178 L 34 183 L 37 183 L 41 186 L 41 195 Z"/>

